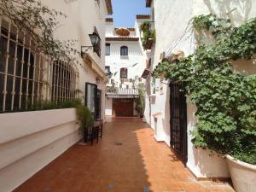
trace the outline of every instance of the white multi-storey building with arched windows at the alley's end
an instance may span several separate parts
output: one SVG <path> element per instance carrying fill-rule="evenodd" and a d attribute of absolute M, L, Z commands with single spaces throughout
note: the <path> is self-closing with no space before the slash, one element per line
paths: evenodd
<path fill-rule="evenodd" d="M 106 115 L 137 115 L 137 84 L 146 66 L 146 55 L 140 41 L 139 26 L 149 15 L 137 15 L 133 28 L 115 27 L 106 19 L 106 73 L 110 74 L 106 96 Z"/>

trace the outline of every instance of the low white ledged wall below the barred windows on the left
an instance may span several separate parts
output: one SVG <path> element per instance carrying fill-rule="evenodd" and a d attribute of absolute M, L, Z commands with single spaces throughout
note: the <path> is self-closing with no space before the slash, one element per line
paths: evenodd
<path fill-rule="evenodd" d="M 0 191 L 24 183 L 80 139 L 74 108 L 0 114 Z"/>

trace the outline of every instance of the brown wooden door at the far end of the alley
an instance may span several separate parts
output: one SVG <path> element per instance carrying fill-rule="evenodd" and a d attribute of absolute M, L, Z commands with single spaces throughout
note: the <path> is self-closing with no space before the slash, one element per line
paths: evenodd
<path fill-rule="evenodd" d="M 113 116 L 132 117 L 133 99 L 113 99 Z"/>

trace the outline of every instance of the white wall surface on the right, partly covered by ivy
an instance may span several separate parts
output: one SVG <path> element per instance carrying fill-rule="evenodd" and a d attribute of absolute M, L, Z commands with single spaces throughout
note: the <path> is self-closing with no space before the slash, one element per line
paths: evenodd
<path fill-rule="evenodd" d="M 164 7 L 160 11 L 160 8 Z M 191 9 L 192 8 L 192 9 Z M 233 10 L 234 9 L 234 10 Z M 233 11 L 232 11 L 233 10 Z M 168 13 L 168 14 L 167 14 Z M 183 13 L 183 14 L 178 14 Z M 154 67 L 160 62 L 160 53 L 166 52 L 166 55 L 176 50 L 183 50 L 185 56 L 192 54 L 196 47 L 196 40 L 212 42 L 209 39 L 210 36 L 205 34 L 192 33 L 192 18 L 195 15 L 208 15 L 210 13 L 217 14 L 219 18 L 230 18 L 231 25 L 240 26 L 244 20 L 249 20 L 256 15 L 256 10 L 253 9 L 253 2 L 241 2 L 241 1 L 154 1 L 154 14 L 155 14 L 155 26 L 156 26 L 156 44 L 154 56 Z M 190 21 L 189 21 L 190 20 Z M 190 26 L 188 23 L 190 22 Z M 234 62 L 234 70 L 242 71 L 243 73 L 252 74 L 255 70 L 255 66 L 252 65 L 251 61 L 236 61 Z M 185 71 L 183 71 L 185 72 Z M 168 83 L 169 81 L 164 81 Z M 168 86 L 164 85 L 164 90 L 168 90 Z M 167 105 L 163 105 L 169 99 L 169 95 L 161 96 L 160 93 L 156 94 L 155 107 L 158 110 L 165 113 Z M 151 108 L 152 109 L 152 108 Z M 188 102 L 188 142 L 189 142 L 189 161 L 187 166 L 195 173 L 197 177 L 229 177 L 226 163 L 223 159 L 217 155 L 209 157 L 209 152 L 203 149 L 195 148 L 194 144 L 191 143 L 193 138 L 189 131 L 195 129 L 197 119 L 195 112 L 197 108 L 191 102 Z M 151 111 L 154 113 L 154 110 Z M 168 132 L 165 130 L 170 129 L 165 127 L 169 124 L 167 117 L 162 118 L 162 126 L 158 127 L 163 133 L 163 140 L 169 144 Z"/>

